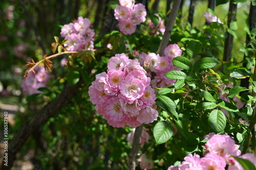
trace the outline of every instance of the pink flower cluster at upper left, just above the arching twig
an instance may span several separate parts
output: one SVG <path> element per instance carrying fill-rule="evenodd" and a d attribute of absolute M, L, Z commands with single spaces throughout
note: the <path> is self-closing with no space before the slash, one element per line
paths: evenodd
<path fill-rule="evenodd" d="M 88 18 L 78 17 L 77 20 L 61 28 L 60 35 L 69 39 L 64 44 L 68 51 L 86 51 L 93 50 L 94 30 L 90 29 L 91 21 Z"/>

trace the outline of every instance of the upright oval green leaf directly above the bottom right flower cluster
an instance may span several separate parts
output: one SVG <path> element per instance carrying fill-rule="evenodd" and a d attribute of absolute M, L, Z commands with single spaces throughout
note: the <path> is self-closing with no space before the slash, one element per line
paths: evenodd
<path fill-rule="evenodd" d="M 208 117 L 208 124 L 215 133 L 222 132 L 226 127 L 225 114 L 220 110 L 213 110 Z"/>

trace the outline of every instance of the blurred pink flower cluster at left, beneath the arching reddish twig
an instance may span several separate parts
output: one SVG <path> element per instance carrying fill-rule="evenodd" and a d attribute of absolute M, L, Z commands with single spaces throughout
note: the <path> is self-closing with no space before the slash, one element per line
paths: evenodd
<path fill-rule="evenodd" d="M 35 74 L 30 72 L 26 79 L 22 81 L 22 89 L 31 94 L 42 93 L 42 91 L 37 90 L 40 87 L 45 87 L 47 81 L 50 79 L 50 75 L 45 71 L 44 67 L 37 66 L 34 69 Z"/>

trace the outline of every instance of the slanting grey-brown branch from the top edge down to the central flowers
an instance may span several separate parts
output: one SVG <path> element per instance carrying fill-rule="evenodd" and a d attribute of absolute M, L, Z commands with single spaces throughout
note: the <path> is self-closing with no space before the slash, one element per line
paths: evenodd
<path fill-rule="evenodd" d="M 174 5 L 172 8 L 172 11 L 170 11 L 170 14 L 169 14 L 169 18 L 168 18 L 168 21 L 167 21 L 167 24 L 165 27 L 163 39 L 161 40 L 160 45 L 157 50 L 157 53 L 160 56 L 163 56 L 163 51 L 169 42 L 170 34 L 172 34 L 172 31 L 174 28 L 174 22 L 175 22 L 177 14 L 178 14 L 180 3 L 181 3 L 181 0 L 174 0 Z"/>

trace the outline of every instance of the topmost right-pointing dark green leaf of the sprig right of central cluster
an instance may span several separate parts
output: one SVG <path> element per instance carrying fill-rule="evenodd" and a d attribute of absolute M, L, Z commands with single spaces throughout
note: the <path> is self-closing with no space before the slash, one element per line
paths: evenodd
<path fill-rule="evenodd" d="M 216 66 L 219 62 L 211 57 L 204 57 L 196 61 L 196 63 L 193 66 L 193 69 L 199 70 L 199 69 L 207 69 L 212 68 Z"/>

